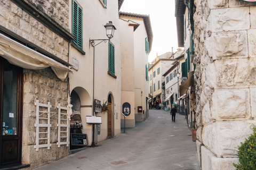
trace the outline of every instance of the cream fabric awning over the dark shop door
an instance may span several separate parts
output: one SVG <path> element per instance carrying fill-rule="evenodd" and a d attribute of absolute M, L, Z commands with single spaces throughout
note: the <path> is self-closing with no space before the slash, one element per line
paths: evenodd
<path fill-rule="evenodd" d="M 0 56 L 5 58 L 11 64 L 22 67 L 23 69 L 39 70 L 50 66 L 53 72 L 62 81 L 66 79 L 69 71 L 72 72 L 69 67 L 36 52 L 1 33 Z"/>

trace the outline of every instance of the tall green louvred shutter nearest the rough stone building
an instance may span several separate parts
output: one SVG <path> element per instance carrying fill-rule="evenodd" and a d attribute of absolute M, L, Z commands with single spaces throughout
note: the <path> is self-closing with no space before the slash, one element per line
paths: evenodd
<path fill-rule="evenodd" d="M 79 48 L 83 48 L 83 10 L 76 1 L 73 1 L 73 22 L 72 33 L 74 35 L 73 43 Z"/>

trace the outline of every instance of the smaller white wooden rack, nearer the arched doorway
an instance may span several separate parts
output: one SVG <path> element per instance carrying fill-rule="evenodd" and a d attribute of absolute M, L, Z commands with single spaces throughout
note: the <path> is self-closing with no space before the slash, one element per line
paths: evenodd
<path fill-rule="evenodd" d="M 58 147 L 60 147 L 61 145 L 67 145 L 67 147 L 69 146 L 69 118 L 68 118 L 68 114 L 67 114 L 67 111 L 68 111 L 68 107 L 63 107 L 60 105 L 57 106 L 58 108 L 58 142 L 57 142 L 57 145 Z M 61 113 L 61 111 L 64 110 L 66 111 L 66 113 Z M 65 122 L 66 121 L 66 124 L 62 124 L 62 122 Z M 66 129 L 66 131 L 61 131 L 61 129 L 63 130 L 63 128 Z M 63 134 L 63 133 L 66 133 L 65 136 L 62 136 L 60 134 Z M 66 138 L 66 142 L 61 142 L 61 139 L 63 138 Z"/>

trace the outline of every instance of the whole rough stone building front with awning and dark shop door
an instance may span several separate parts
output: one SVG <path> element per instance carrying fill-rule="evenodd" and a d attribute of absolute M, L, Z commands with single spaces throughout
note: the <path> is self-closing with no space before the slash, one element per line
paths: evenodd
<path fill-rule="evenodd" d="M 67 145 L 57 146 L 57 106 L 60 103 L 67 107 L 67 74 L 71 71 L 68 46 L 74 38 L 66 30 L 68 11 L 69 0 L 0 1 L 0 121 L 2 129 L 7 132 L 1 133 L 0 138 L 0 168 L 34 169 L 69 155 Z M 12 83 L 14 79 L 17 81 Z M 10 95 L 9 100 L 6 95 Z M 37 99 L 43 105 L 50 102 L 52 106 L 48 132 L 51 147 L 39 148 L 38 151 L 35 148 Z M 6 101 L 11 102 L 12 107 L 6 108 Z M 17 123 L 10 121 L 14 118 Z M 39 135 L 39 138 L 44 137 Z M 45 143 L 46 140 L 39 142 Z"/>

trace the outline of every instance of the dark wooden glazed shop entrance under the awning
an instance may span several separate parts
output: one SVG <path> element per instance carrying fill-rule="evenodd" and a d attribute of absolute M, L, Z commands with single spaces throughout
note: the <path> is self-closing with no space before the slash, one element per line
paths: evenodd
<path fill-rule="evenodd" d="M 0 57 L 0 168 L 21 164 L 22 69 Z"/>

